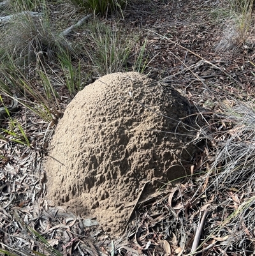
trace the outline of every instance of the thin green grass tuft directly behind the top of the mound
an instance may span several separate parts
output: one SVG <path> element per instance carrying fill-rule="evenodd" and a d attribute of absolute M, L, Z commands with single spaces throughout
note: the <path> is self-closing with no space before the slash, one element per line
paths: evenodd
<path fill-rule="evenodd" d="M 97 77 L 114 72 L 146 73 L 156 57 L 149 59 L 146 39 L 140 45 L 136 34 L 128 34 L 117 23 L 110 26 L 94 19 L 85 27 L 85 34 L 77 52 L 85 52 Z"/>

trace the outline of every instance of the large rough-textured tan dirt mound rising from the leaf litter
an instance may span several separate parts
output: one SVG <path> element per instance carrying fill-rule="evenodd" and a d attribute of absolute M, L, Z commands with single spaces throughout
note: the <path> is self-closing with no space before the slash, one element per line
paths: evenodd
<path fill-rule="evenodd" d="M 96 80 L 57 125 L 45 162 L 48 198 L 119 234 L 147 181 L 186 174 L 195 151 L 185 146 L 190 111 L 177 91 L 139 73 Z"/>

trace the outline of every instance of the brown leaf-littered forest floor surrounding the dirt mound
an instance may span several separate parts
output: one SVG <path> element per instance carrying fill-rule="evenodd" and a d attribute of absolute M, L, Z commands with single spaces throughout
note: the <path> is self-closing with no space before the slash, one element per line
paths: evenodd
<path fill-rule="evenodd" d="M 68 4 L 52 4 L 52 8 L 51 22 L 57 31 L 76 24 L 86 14 L 71 10 Z M 169 184 L 160 195 L 136 206 L 136 217 L 123 230 L 123 236 L 110 237 L 96 220 L 84 220 L 49 205 L 41 164 L 55 123 L 33 113 L 27 116 L 27 109 L 20 105 L 11 117 L 25 126 L 30 145 L 11 140 L 13 134 L 6 130 L 0 137 L 2 250 L 9 250 L 13 253 L 10 255 L 194 255 L 194 250 L 196 255 L 254 255 L 253 124 L 241 132 L 238 125 L 247 124 L 242 114 L 250 116 L 251 123 L 255 116 L 255 34 L 249 31 L 243 40 L 224 11 L 224 4 L 217 0 L 141 0 L 133 1 L 118 17 L 90 18 L 120 31 L 122 38 L 136 34 L 138 40 L 126 71 L 142 70 L 134 63 L 145 45 L 143 73 L 169 84 L 198 109 L 204 109 L 201 118 L 207 120 L 210 116 L 211 120 L 207 134 L 203 134 L 208 143 L 204 152 L 193 159 L 193 176 L 174 186 Z M 6 13 L 2 11 L 1 16 Z M 87 40 L 86 31 L 84 24 L 68 34 L 68 40 L 82 45 Z M 93 63 L 86 56 L 79 57 L 83 61 L 81 73 L 89 70 L 84 85 L 104 75 L 91 68 Z M 72 61 L 78 68 L 79 59 L 74 57 Z M 58 74 L 56 81 L 62 76 L 54 61 L 49 61 L 47 68 Z M 33 73 L 33 64 L 27 69 Z M 38 82 L 36 77 L 34 81 Z M 61 98 L 61 116 L 73 95 L 61 84 L 56 89 Z M 6 94 L 1 96 L 4 104 L 10 105 L 11 99 Z M 10 119 L 4 119 L 2 125 L 10 125 Z M 225 149 L 228 142 L 235 142 L 237 147 L 231 144 L 230 152 L 219 156 L 219 148 Z M 222 176 L 222 166 L 228 165 L 227 158 L 238 156 L 240 147 L 250 153 L 242 155 L 249 168 L 233 165 L 244 171 L 242 177 Z M 240 159 L 233 162 L 240 163 Z M 228 183 L 222 181 L 225 177 Z M 196 241 L 198 245 L 194 245 Z"/>

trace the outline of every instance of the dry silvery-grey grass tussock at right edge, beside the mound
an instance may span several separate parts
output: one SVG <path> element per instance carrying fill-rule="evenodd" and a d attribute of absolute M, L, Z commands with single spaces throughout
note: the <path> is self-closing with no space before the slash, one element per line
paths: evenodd
<path fill-rule="evenodd" d="M 228 112 L 226 119 L 233 123 L 233 127 L 222 134 L 219 131 L 217 135 L 217 150 L 212 165 L 213 172 L 217 174 L 215 188 L 238 187 L 238 190 L 244 189 L 245 192 L 254 190 L 254 117 L 254 109 L 242 103 Z"/>

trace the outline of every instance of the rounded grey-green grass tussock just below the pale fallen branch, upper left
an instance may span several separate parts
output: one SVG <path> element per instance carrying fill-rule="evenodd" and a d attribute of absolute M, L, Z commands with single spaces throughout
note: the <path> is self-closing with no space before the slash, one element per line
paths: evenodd
<path fill-rule="evenodd" d="M 52 32 L 50 22 L 43 15 L 32 17 L 24 13 L 6 25 L 0 41 L 4 50 L 2 59 L 7 61 L 11 56 L 17 63 L 27 66 L 37 58 L 53 59 L 61 49 L 68 50 L 68 43 Z"/>

